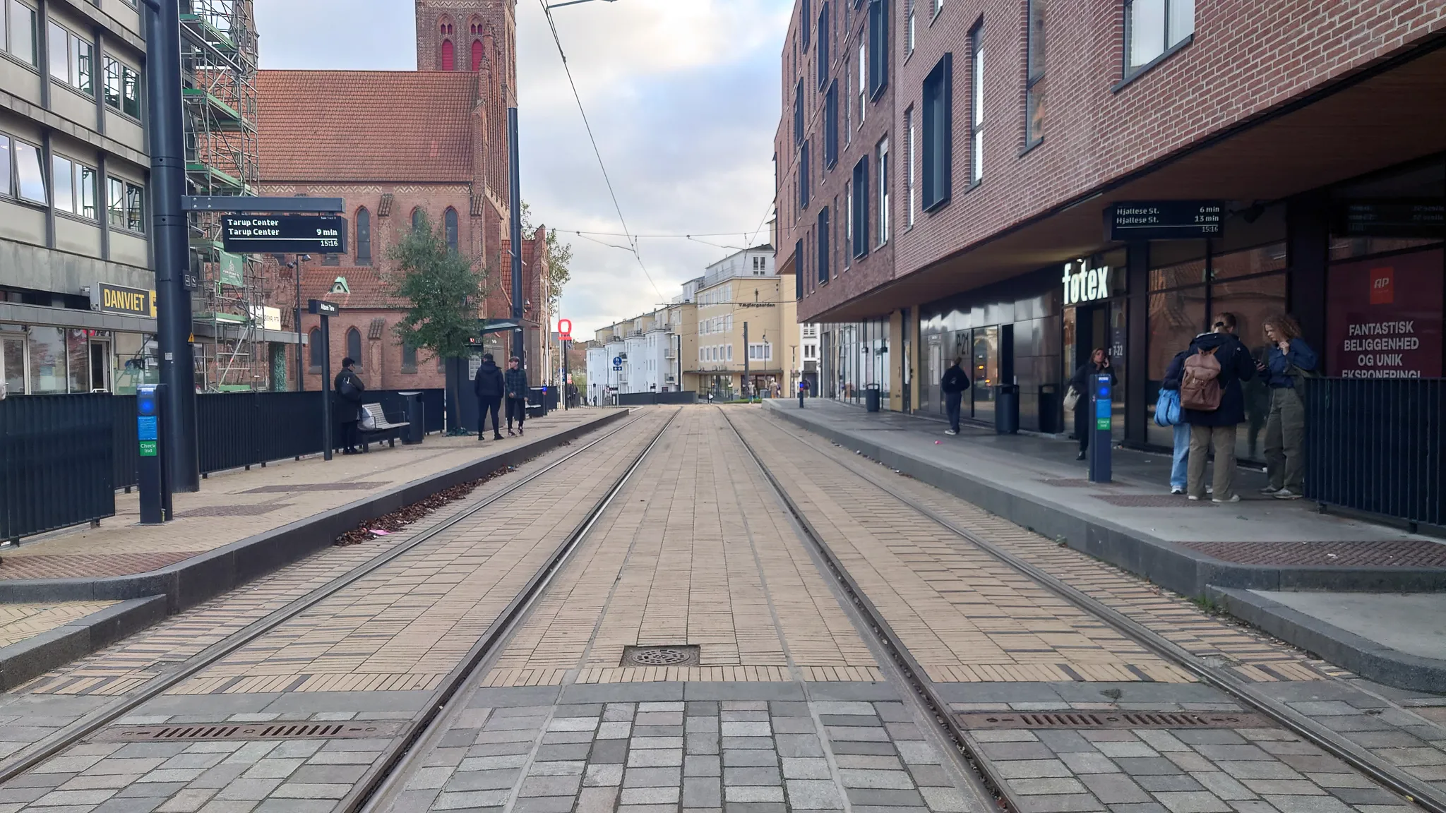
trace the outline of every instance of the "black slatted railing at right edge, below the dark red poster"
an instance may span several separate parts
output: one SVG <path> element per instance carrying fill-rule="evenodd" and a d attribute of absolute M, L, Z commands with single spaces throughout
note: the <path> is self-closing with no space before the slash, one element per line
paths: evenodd
<path fill-rule="evenodd" d="M 1446 379 L 1306 382 L 1306 496 L 1446 525 Z"/>

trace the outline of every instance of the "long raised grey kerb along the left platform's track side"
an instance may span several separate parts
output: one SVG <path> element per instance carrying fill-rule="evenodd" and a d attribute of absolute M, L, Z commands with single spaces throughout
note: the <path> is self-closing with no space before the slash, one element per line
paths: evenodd
<path fill-rule="evenodd" d="M 607 411 L 596 420 L 570 427 L 555 435 L 454 466 L 445 472 L 239 540 L 161 570 L 104 579 L 0 582 L 0 603 L 130 600 L 162 596 L 166 602 L 166 613 L 176 613 L 324 550 L 338 535 L 362 522 L 390 514 L 442 489 L 515 466 L 528 457 L 603 428 L 623 418 L 628 412 L 628 409 Z"/>

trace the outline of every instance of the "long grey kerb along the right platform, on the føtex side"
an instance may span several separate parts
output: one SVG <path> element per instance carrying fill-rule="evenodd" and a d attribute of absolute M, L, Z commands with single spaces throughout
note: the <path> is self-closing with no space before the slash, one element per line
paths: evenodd
<path fill-rule="evenodd" d="M 1002 486 L 983 476 L 944 469 L 878 443 L 811 421 L 797 409 L 765 402 L 781 417 L 839 446 L 859 451 L 920 482 L 1051 540 L 1087 553 L 1186 596 L 1203 596 L 1207 586 L 1246 590 L 1446 590 L 1446 569 L 1320 569 L 1264 567 L 1220 561 L 1139 531 L 1087 516 L 1047 499 Z"/>

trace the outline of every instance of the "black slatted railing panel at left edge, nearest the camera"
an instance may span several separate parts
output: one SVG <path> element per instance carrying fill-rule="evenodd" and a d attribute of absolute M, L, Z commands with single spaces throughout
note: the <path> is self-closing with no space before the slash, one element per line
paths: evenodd
<path fill-rule="evenodd" d="M 110 395 L 0 401 L 0 540 L 116 514 L 113 401 Z"/>

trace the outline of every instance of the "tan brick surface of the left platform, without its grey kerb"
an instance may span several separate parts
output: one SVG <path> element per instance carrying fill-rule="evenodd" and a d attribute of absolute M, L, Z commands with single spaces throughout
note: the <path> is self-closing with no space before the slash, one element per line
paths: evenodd
<path fill-rule="evenodd" d="M 534 427 L 528 440 L 597 417 L 594 409 L 552 412 L 528 421 Z M 221 472 L 202 480 L 200 492 L 175 495 L 178 519 L 159 527 L 139 525 L 137 493 L 119 493 L 116 516 L 103 519 L 100 528 L 59 531 L 7 550 L 0 558 L 0 582 L 145 573 L 521 443 L 523 438 L 479 443 L 476 437 L 428 435 L 419 446 L 376 448 L 370 454 L 337 456 L 331 461 L 315 456 Z M 338 489 L 337 485 L 344 486 Z M 137 558 L 120 558 L 120 554 Z M 182 556 L 155 564 L 161 560 L 146 558 L 155 554 Z M 40 563 L 27 564 L 29 558 L 40 558 Z M 121 564 L 127 561 L 132 564 Z"/>

